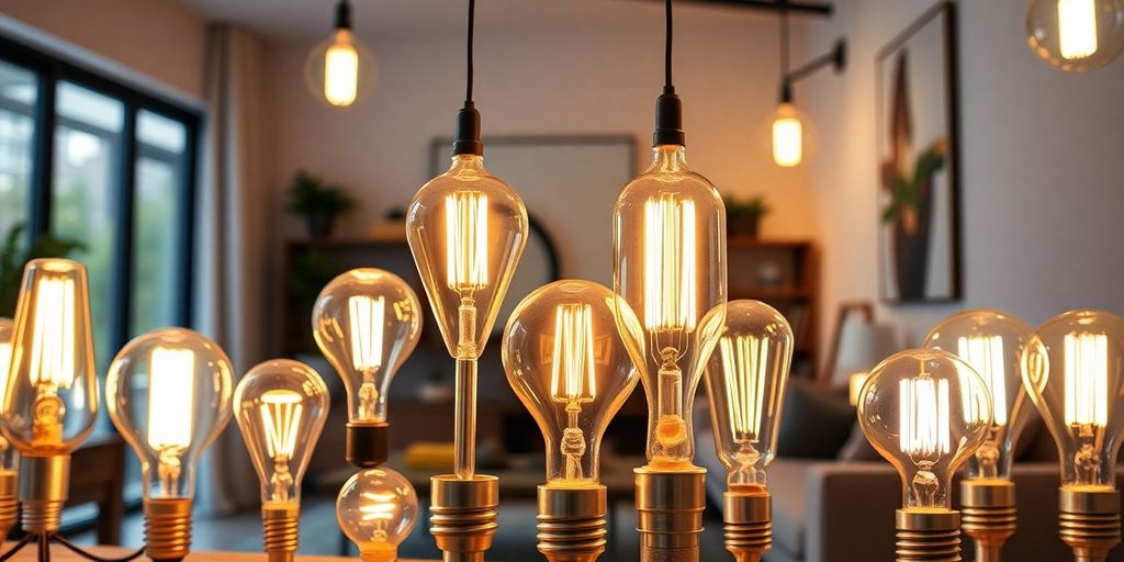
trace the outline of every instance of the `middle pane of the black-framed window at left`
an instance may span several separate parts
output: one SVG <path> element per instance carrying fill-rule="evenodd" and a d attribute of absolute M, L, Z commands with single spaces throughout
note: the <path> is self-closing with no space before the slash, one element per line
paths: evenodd
<path fill-rule="evenodd" d="M 73 257 L 89 270 L 94 352 L 105 373 L 116 352 L 110 327 L 125 107 L 67 82 L 60 82 L 57 92 L 51 232 L 84 245 Z"/>

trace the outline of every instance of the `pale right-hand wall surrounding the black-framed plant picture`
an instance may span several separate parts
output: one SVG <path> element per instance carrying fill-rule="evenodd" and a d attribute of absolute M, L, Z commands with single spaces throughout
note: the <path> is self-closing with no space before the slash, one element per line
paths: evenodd
<path fill-rule="evenodd" d="M 804 84 L 824 138 L 809 166 L 827 311 L 878 298 L 874 55 L 933 0 L 845 0 L 806 47 L 851 45 L 842 79 Z M 916 344 L 944 315 L 997 307 L 1039 324 L 1067 309 L 1124 312 L 1124 61 L 1069 75 L 1026 47 L 1023 0 L 960 3 L 964 300 L 881 306 Z M 825 329 L 828 329 L 825 327 Z"/>

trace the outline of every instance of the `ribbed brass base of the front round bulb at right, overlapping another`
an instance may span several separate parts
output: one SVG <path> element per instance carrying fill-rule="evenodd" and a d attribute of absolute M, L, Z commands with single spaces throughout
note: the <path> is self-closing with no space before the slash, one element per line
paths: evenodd
<path fill-rule="evenodd" d="M 898 562 L 959 562 L 960 511 L 898 509 Z"/>

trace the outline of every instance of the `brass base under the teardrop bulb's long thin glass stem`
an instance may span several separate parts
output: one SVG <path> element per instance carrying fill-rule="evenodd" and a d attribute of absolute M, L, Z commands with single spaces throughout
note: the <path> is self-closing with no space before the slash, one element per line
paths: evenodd
<path fill-rule="evenodd" d="M 429 484 L 429 533 L 444 562 L 483 562 L 499 528 L 499 479 L 477 474 L 457 480 L 454 474 L 442 474 Z"/>

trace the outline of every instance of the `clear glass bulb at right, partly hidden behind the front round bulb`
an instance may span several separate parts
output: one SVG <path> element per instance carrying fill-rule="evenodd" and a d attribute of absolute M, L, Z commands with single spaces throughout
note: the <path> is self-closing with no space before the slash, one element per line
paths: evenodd
<path fill-rule="evenodd" d="M 968 460 L 969 478 L 1010 478 L 1015 443 L 1033 408 L 1019 368 L 1023 347 L 1033 336 L 1033 328 L 1007 312 L 976 309 L 945 318 L 925 337 L 925 347 L 944 350 L 971 365 L 991 397 L 991 427 Z"/>

